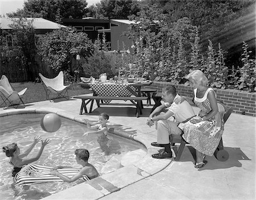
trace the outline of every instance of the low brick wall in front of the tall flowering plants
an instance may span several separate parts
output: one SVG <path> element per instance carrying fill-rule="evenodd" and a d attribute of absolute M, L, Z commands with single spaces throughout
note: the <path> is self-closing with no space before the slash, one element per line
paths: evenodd
<path fill-rule="evenodd" d="M 170 82 L 154 82 L 148 88 L 162 91 L 166 85 L 171 85 Z M 185 85 L 176 85 L 177 93 L 185 97 L 192 97 L 192 87 Z M 232 90 L 232 89 L 214 89 L 217 94 L 217 100 L 222 101 L 224 105 L 232 107 L 234 113 L 242 115 L 256 116 L 255 97 L 256 93 L 248 93 L 247 91 Z"/>

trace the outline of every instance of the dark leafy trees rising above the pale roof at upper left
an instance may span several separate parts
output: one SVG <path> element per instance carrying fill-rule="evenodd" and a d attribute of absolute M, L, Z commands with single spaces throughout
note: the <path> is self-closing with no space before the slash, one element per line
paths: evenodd
<path fill-rule="evenodd" d="M 87 12 L 84 0 L 27 0 L 23 9 L 8 16 L 42 17 L 56 21 L 59 18 L 82 18 Z"/>

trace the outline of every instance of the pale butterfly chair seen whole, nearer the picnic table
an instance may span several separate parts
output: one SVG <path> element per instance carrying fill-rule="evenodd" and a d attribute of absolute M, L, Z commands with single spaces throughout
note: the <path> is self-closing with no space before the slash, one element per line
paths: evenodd
<path fill-rule="evenodd" d="M 68 86 L 64 85 L 64 75 L 63 71 L 60 71 L 59 75 L 55 78 L 46 78 L 41 73 L 39 73 L 39 76 L 42 78 L 42 81 L 44 83 L 44 89 L 46 90 L 46 99 L 49 99 L 49 101 L 54 101 L 57 98 L 65 98 L 69 99 L 68 97 Z M 55 98 L 51 100 L 49 95 L 57 94 Z M 65 97 L 65 94 L 67 93 L 67 97 Z"/>

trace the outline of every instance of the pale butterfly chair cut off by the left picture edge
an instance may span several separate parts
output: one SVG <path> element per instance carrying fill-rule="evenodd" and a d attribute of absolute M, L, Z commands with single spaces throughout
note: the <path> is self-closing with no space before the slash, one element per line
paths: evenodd
<path fill-rule="evenodd" d="M 26 90 L 27 87 L 20 92 L 14 91 L 8 78 L 5 75 L 3 75 L 0 80 L 0 94 L 1 98 L 3 99 L 3 103 L 0 105 L 0 107 L 3 104 L 6 104 L 6 106 L 8 107 L 16 105 L 16 107 L 14 107 L 17 108 L 21 102 L 24 105 L 24 102 L 22 101 L 21 97 L 26 92 Z"/>

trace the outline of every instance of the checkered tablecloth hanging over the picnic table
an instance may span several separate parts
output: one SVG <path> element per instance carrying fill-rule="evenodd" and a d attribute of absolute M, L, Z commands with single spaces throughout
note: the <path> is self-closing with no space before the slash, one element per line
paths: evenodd
<path fill-rule="evenodd" d="M 128 86 L 135 91 L 135 87 L 131 86 L 131 84 L 112 84 L 106 82 L 89 84 L 89 86 L 98 96 L 107 97 L 130 97 L 133 94 L 127 90 Z M 104 100 L 105 103 L 109 103 L 110 101 L 111 100 Z"/>

